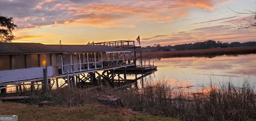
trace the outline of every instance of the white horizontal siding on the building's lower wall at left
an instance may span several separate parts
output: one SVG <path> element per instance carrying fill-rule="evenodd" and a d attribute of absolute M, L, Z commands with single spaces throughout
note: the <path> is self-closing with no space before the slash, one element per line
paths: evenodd
<path fill-rule="evenodd" d="M 23 81 L 44 77 L 43 69 L 45 67 L 32 67 L 27 69 L 14 69 L 0 71 L 0 83 Z M 47 74 L 53 76 L 52 66 L 47 67 Z"/>

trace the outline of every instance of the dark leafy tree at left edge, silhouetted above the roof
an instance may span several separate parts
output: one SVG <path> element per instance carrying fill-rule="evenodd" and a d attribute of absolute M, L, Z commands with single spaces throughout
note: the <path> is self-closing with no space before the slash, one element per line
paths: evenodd
<path fill-rule="evenodd" d="M 11 42 L 15 37 L 12 34 L 12 30 L 17 27 L 17 25 L 13 23 L 12 17 L 0 16 L 0 26 L 0 42 Z"/>

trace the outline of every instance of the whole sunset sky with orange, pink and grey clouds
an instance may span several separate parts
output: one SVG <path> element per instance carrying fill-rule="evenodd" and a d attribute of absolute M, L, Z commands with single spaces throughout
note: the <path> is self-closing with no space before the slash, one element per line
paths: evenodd
<path fill-rule="evenodd" d="M 13 17 L 12 42 L 87 44 L 135 40 L 141 46 L 256 41 L 256 29 L 235 29 L 255 0 L 0 0 Z M 231 25 L 231 26 L 230 26 Z M 138 46 L 138 42 L 136 42 Z"/>

